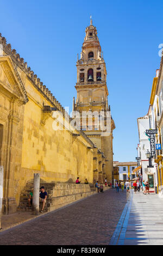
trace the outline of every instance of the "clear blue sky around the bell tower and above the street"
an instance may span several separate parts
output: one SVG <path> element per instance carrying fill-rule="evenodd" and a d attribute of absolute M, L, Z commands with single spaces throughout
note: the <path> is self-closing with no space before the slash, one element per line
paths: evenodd
<path fill-rule="evenodd" d="M 159 44 L 162 0 L 1 1 L 0 32 L 62 106 L 76 96 L 76 60 L 90 23 L 97 27 L 115 121 L 114 160 L 134 161 L 137 117 L 147 114 Z"/>

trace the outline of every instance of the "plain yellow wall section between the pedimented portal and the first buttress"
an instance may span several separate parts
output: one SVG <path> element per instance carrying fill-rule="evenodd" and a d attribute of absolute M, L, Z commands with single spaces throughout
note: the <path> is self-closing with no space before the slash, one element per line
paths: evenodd
<path fill-rule="evenodd" d="M 34 101 L 39 93 L 30 83 L 29 86 L 31 96 L 28 95 L 29 102 L 24 107 L 22 186 L 33 179 L 34 172 L 39 172 L 47 182 L 74 182 L 77 176 L 82 182 L 85 178 L 93 182 L 93 153 L 87 149 L 89 143 L 82 136 L 73 138 L 70 131 L 54 131 L 52 117 L 41 126 L 41 107 Z"/>

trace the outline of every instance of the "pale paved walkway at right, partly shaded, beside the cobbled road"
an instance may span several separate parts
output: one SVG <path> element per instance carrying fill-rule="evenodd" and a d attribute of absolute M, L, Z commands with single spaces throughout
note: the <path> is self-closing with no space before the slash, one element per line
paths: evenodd
<path fill-rule="evenodd" d="M 163 199 L 131 190 L 110 245 L 163 245 Z"/>

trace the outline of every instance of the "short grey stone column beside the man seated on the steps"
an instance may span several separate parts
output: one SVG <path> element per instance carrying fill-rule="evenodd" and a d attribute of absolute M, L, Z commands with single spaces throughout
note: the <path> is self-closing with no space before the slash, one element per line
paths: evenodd
<path fill-rule="evenodd" d="M 40 191 L 40 173 L 34 173 L 33 182 L 33 211 L 34 214 L 39 214 L 39 191 Z"/>

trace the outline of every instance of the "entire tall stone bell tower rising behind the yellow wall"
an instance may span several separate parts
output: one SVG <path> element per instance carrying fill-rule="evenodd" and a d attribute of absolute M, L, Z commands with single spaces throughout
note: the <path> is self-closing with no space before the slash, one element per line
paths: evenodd
<path fill-rule="evenodd" d="M 75 86 L 77 99 L 75 101 L 73 98 L 73 112 L 77 111 L 82 115 L 83 112 L 100 113 L 102 111 L 105 117 L 106 113 L 110 113 L 106 75 L 106 66 L 97 36 L 97 29 L 92 25 L 91 19 L 90 26 L 86 27 L 85 30 L 80 59 L 77 59 L 77 83 Z M 105 157 L 105 163 L 101 168 L 103 170 L 103 178 L 106 176 L 108 181 L 111 182 L 113 172 L 112 130 L 115 129 L 115 124 L 110 118 L 110 133 L 108 136 L 103 136 L 99 126 L 96 126 L 96 118 L 93 117 L 92 126 L 88 125 L 87 119 L 83 122 L 84 125 L 80 120 L 80 126 L 96 145 L 98 151 Z"/>

